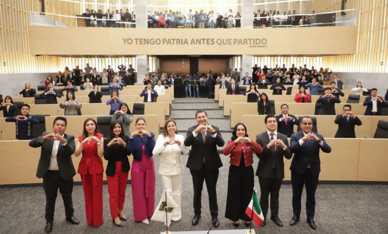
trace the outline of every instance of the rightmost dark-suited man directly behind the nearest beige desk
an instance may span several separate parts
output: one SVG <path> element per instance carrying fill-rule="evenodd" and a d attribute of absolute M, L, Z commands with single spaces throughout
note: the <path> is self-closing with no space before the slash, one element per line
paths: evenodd
<path fill-rule="evenodd" d="M 335 133 L 335 138 L 356 138 L 354 126 L 361 126 L 361 120 L 352 112 L 352 106 L 344 105 L 344 114 L 337 115 L 334 122 L 338 124 L 338 130 Z"/>

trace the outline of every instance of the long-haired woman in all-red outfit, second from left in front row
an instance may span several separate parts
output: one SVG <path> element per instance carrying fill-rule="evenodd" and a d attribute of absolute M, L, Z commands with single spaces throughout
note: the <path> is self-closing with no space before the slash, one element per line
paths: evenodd
<path fill-rule="evenodd" d="M 101 157 L 104 153 L 104 137 L 99 133 L 93 118 L 84 121 L 82 135 L 78 136 L 78 146 L 74 155 L 82 158 L 78 166 L 85 194 L 86 220 L 88 225 L 98 227 L 102 224 L 102 173 Z"/>

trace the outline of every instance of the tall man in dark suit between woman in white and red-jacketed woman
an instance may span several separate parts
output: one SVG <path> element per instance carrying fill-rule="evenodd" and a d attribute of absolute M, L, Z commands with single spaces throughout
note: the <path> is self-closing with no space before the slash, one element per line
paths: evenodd
<path fill-rule="evenodd" d="M 203 181 L 206 181 L 207 193 L 209 194 L 209 208 L 214 228 L 219 227 L 218 205 L 216 185 L 218 180 L 218 168 L 222 162 L 217 151 L 217 145 L 222 147 L 224 140 L 218 127 L 207 123 L 207 113 L 198 110 L 195 113 L 197 124 L 190 127 L 185 139 L 186 146 L 192 146 L 187 161 L 187 167 L 193 176 L 194 186 L 194 218 L 192 225 L 198 224 L 201 218 L 201 196 Z"/>

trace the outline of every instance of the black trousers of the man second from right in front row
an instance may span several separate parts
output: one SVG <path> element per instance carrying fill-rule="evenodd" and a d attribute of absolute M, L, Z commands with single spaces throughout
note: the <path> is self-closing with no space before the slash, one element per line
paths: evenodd
<path fill-rule="evenodd" d="M 260 206 L 264 218 L 268 213 L 268 197 L 271 194 L 271 217 L 278 217 L 279 213 L 279 191 L 282 181 L 276 176 L 276 169 L 272 169 L 270 177 L 264 179 L 259 177 L 260 184 Z"/>

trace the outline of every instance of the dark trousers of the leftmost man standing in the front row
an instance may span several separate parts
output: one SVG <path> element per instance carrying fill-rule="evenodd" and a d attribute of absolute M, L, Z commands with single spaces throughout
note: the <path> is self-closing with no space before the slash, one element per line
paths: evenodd
<path fill-rule="evenodd" d="M 66 217 L 73 215 L 73 183 L 73 178 L 63 180 L 59 171 L 47 171 L 43 176 L 43 189 L 46 194 L 46 213 L 44 217 L 47 222 L 54 221 L 55 200 L 57 199 L 58 188 L 65 205 Z"/>

